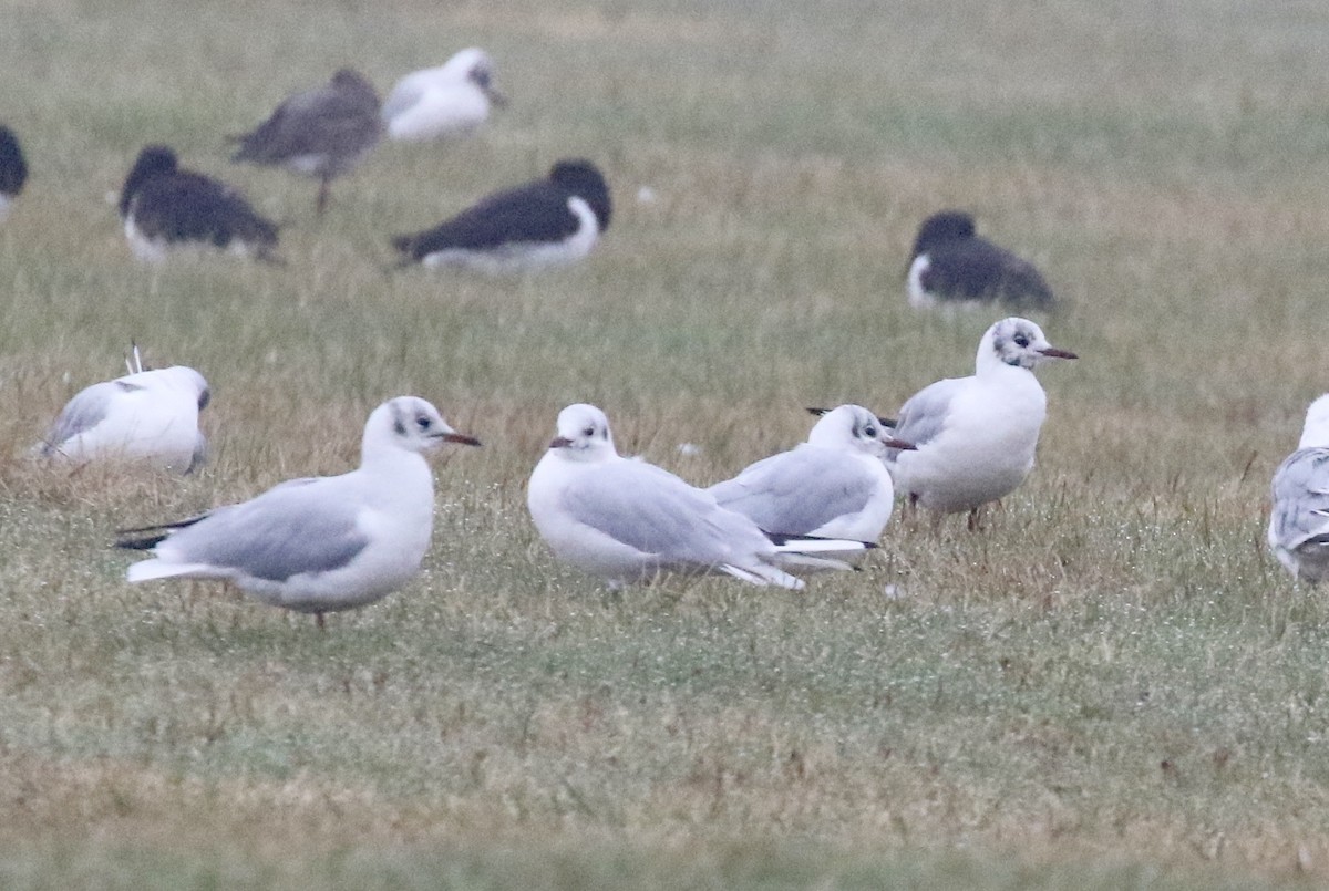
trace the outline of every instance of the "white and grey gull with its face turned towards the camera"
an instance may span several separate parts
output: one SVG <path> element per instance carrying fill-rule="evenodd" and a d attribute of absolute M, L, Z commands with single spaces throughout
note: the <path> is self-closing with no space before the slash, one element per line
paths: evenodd
<path fill-rule="evenodd" d="M 558 436 L 530 475 L 526 505 L 554 554 L 610 587 L 661 572 L 726 574 L 801 588 L 788 568 L 851 568 L 833 559 L 868 542 L 767 534 L 667 470 L 623 458 L 594 405 L 558 413 Z"/>

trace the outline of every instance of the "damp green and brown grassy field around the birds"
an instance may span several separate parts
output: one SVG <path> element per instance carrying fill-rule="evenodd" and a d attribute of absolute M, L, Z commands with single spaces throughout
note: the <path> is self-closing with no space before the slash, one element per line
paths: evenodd
<path fill-rule="evenodd" d="M 1263 544 L 1329 386 L 1322 4 L 193 5 L 0 0 L 33 170 L 0 227 L 0 886 L 1329 883 L 1329 603 Z M 381 146 L 323 219 L 226 161 L 340 65 L 385 92 L 472 44 L 510 106 Z M 282 220 L 288 264 L 136 263 L 105 195 L 146 142 Z M 569 155 L 617 199 L 585 264 L 385 270 Z M 553 562 L 525 481 L 567 402 L 711 482 L 804 405 L 969 373 L 999 311 L 904 297 L 948 206 L 1042 266 L 1082 357 L 983 532 L 893 523 L 805 594 Z M 206 470 L 24 461 L 132 339 L 210 380 Z M 114 528 L 346 470 L 400 393 L 486 445 L 435 462 L 405 590 L 318 633 L 124 582 Z"/>

